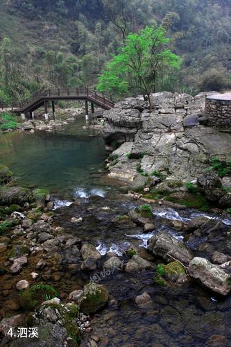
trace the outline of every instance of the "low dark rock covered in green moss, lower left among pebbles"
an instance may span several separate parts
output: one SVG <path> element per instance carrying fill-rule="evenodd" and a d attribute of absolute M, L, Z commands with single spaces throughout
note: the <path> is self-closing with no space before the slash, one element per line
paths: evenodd
<path fill-rule="evenodd" d="M 53 287 L 40 283 L 26 289 L 26 291 L 19 296 L 19 303 L 22 310 L 32 312 L 39 307 L 41 303 L 47 299 L 55 298 L 56 296 L 58 296 L 58 294 Z"/>

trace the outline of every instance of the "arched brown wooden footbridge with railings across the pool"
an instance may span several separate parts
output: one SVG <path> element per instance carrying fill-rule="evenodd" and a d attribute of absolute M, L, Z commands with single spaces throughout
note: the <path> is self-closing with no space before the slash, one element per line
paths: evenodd
<path fill-rule="evenodd" d="M 110 110 L 117 102 L 112 96 L 107 96 L 103 93 L 96 92 L 87 87 L 75 89 L 52 89 L 40 90 L 33 94 L 30 99 L 24 101 L 20 105 L 12 105 L 11 110 L 17 114 L 21 114 L 23 118 L 29 114 L 33 118 L 33 112 L 44 106 L 45 117 L 48 118 L 48 103 L 51 101 L 52 113 L 55 118 L 55 101 L 57 100 L 83 100 L 85 101 L 85 115 L 89 115 L 88 103 L 91 103 L 92 113 L 94 114 L 94 105 L 103 108 L 103 110 Z M 8 105 L 8 108 L 9 105 Z"/>

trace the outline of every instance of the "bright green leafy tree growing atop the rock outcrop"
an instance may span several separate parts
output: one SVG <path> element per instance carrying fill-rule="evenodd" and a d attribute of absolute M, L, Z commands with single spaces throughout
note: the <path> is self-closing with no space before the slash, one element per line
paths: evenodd
<path fill-rule="evenodd" d="M 139 34 L 130 34 L 119 54 L 100 76 L 98 89 L 117 93 L 142 92 L 151 107 L 151 92 L 170 69 L 179 69 L 181 59 L 167 44 L 164 28 L 146 26 Z"/>

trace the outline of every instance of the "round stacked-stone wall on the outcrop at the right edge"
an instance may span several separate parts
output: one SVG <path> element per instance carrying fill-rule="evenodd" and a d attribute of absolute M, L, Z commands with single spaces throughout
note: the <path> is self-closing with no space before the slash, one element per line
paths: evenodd
<path fill-rule="evenodd" d="M 231 100 L 216 100 L 207 98 L 205 102 L 207 125 L 217 128 L 231 126 Z"/>

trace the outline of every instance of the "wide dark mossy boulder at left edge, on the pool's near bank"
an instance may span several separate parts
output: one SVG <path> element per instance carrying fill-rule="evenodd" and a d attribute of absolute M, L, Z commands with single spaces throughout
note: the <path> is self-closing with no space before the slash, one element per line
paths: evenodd
<path fill-rule="evenodd" d="M 0 189 L 0 205 L 24 205 L 31 203 L 33 194 L 29 189 L 22 187 L 3 187 Z"/>

